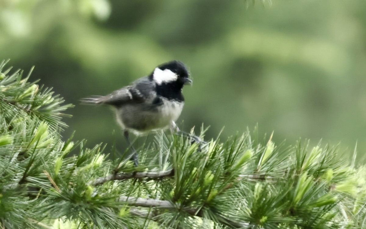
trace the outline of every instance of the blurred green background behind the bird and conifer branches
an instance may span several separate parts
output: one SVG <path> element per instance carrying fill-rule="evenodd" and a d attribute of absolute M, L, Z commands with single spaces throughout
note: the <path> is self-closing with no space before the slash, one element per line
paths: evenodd
<path fill-rule="evenodd" d="M 78 99 L 105 95 L 178 59 L 184 88 L 178 122 L 211 126 L 207 137 L 259 133 L 294 144 L 366 151 L 364 0 L 0 0 L 0 59 L 36 68 L 73 115 L 75 139 L 124 146 L 112 112 Z M 113 129 L 116 136 L 113 137 Z M 182 129 L 182 127 L 181 127 Z M 143 141 L 143 140 L 139 140 Z"/>

